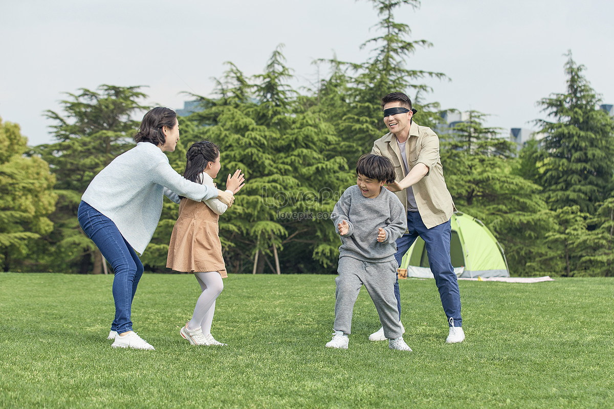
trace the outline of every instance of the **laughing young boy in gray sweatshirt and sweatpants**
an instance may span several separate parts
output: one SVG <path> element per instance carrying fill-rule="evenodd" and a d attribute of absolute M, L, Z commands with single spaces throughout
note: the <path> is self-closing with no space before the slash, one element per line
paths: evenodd
<path fill-rule="evenodd" d="M 378 310 L 389 347 L 411 351 L 402 337 L 394 296 L 395 240 L 405 232 L 407 218 L 397 196 L 383 187 L 394 182 L 394 166 L 390 159 L 370 153 L 360 157 L 356 175 L 356 185 L 346 189 L 330 215 L 342 244 L 335 279 L 335 333 L 326 346 L 348 349 L 352 310 L 364 285 Z"/>

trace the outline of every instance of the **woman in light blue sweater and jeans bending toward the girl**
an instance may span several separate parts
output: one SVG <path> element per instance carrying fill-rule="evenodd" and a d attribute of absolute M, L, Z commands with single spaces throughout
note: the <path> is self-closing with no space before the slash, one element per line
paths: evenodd
<path fill-rule="evenodd" d="M 164 152 L 175 150 L 179 122 L 169 108 L 157 107 L 145 114 L 134 136 L 136 147 L 117 156 L 91 181 L 79 204 L 79 224 L 96 244 L 115 272 L 115 319 L 109 339 L 114 348 L 153 350 L 132 331 L 130 320 L 134 292 L 143 273 L 142 254 L 162 212 L 163 196 L 179 203 L 179 196 L 193 201 L 217 197 L 233 204 L 233 194 L 243 183 L 241 170 L 228 175 L 226 191 L 193 183 L 170 166 Z"/>

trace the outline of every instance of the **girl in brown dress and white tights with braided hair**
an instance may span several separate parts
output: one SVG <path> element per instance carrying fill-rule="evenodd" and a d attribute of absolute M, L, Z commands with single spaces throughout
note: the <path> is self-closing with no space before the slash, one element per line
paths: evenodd
<path fill-rule="evenodd" d="M 215 186 L 213 179 L 220 170 L 219 147 L 208 140 L 194 143 L 185 154 L 184 178 L 202 185 Z M 237 169 L 239 185 L 235 194 L 245 184 L 241 170 Z M 230 175 L 228 175 L 230 178 Z M 179 203 L 179 217 L 173 227 L 168 247 L 166 267 L 194 273 L 202 292 L 196 301 L 192 319 L 179 330 L 179 334 L 192 345 L 226 345 L 217 342 L 211 335 L 216 298 L 223 289 L 222 277 L 228 277 L 222 244 L 219 237 L 218 220 L 227 205 L 218 199 L 195 202 L 182 197 Z"/>

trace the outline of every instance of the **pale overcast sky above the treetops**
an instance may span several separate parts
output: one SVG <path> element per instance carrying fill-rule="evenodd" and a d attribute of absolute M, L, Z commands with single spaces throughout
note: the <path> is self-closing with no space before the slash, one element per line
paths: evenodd
<path fill-rule="evenodd" d="M 433 43 L 408 66 L 451 79 L 429 81 L 425 101 L 488 113 L 507 132 L 535 129 L 535 102 L 565 91 L 567 50 L 614 103 L 613 16 L 604 0 L 423 0 L 395 13 Z M 147 103 L 179 109 L 182 91 L 210 95 L 225 61 L 259 74 L 281 43 L 292 85 L 309 85 L 314 59 L 366 61 L 378 20 L 366 0 L 0 0 L 0 117 L 37 145 L 53 140 L 43 112 L 78 88 L 147 85 Z"/>

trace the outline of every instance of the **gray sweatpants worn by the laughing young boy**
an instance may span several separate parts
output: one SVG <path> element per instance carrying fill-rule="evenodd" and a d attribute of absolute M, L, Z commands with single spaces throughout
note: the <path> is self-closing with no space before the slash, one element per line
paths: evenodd
<path fill-rule="evenodd" d="M 352 312 L 363 285 L 378 310 L 379 321 L 384 327 L 386 338 L 402 335 L 398 321 L 397 299 L 394 283 L 397 276 L 397 262 L 366 262 L 351 257 L 339 259 L 339 276 L 335 278 L 335 331 L 350 334 Z"/>

